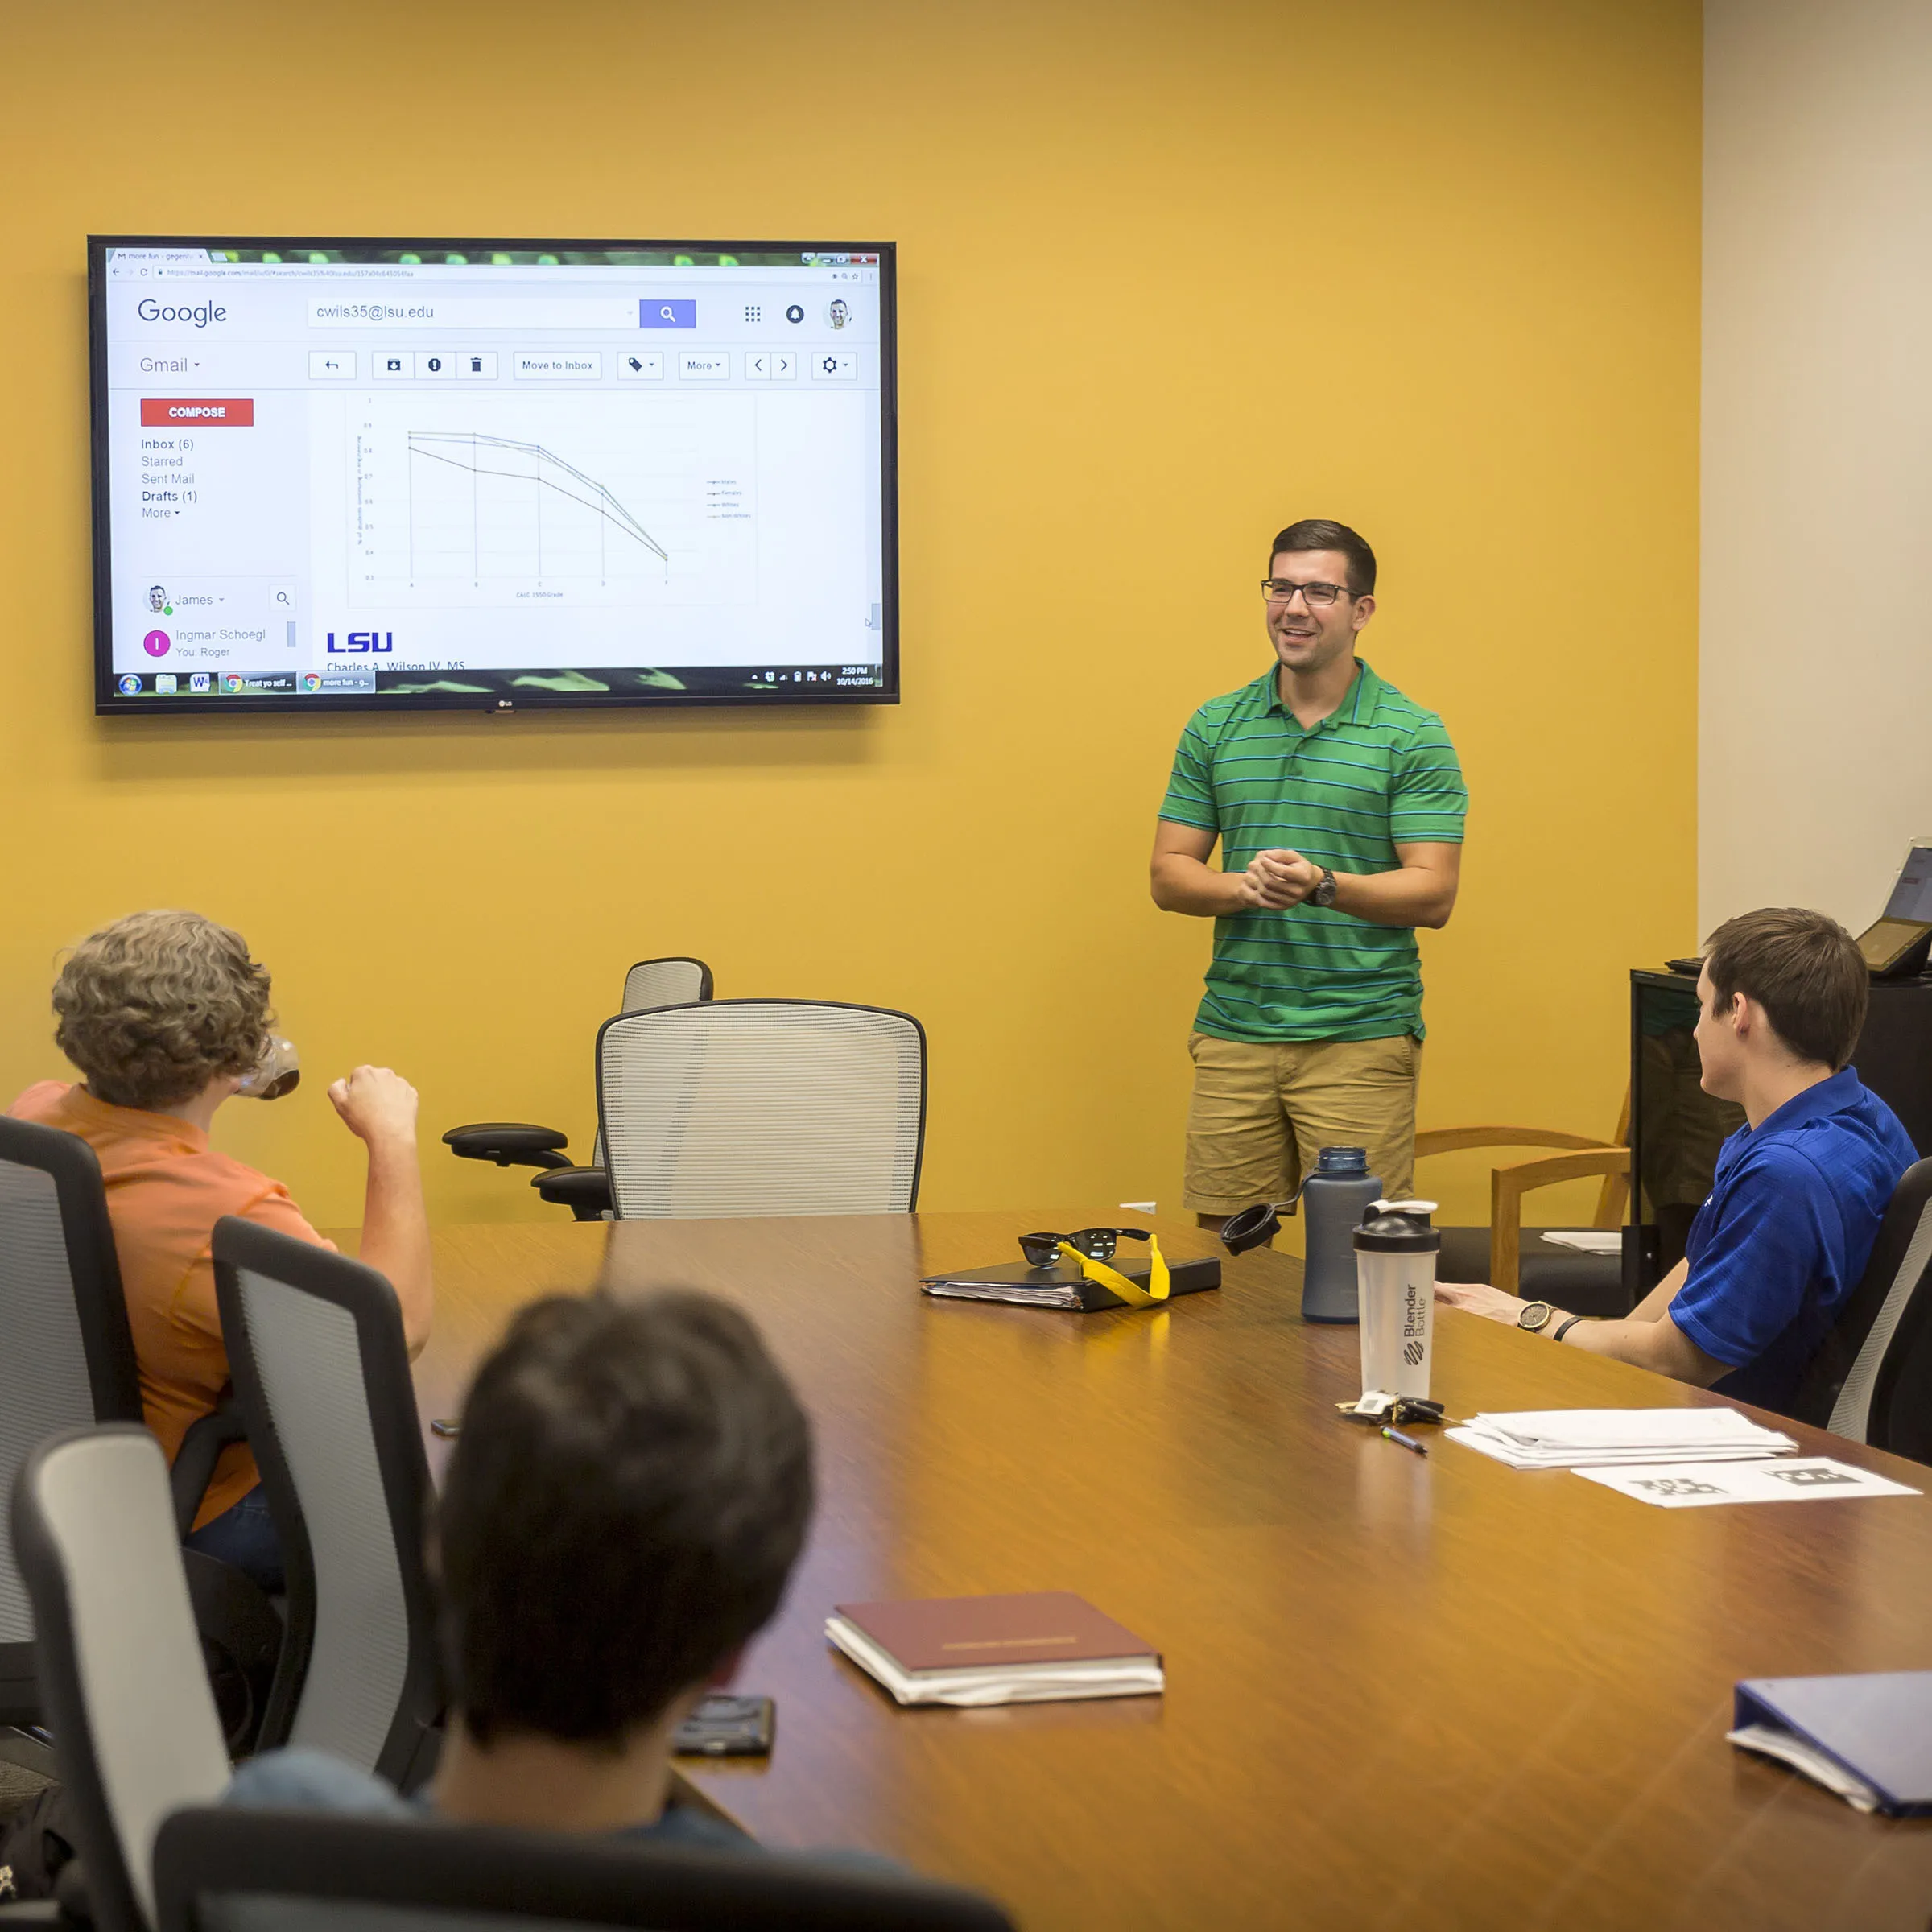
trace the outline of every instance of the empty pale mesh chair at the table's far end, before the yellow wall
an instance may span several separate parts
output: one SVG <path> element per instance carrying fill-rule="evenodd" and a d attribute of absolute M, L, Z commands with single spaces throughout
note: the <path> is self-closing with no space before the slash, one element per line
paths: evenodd
<path fill-rule="evenodd" d="M 925 1032 L 804 999 L 620 1014 L 597 1032 L 597 1119 L 620 1221 L 910 1213 Z"/>

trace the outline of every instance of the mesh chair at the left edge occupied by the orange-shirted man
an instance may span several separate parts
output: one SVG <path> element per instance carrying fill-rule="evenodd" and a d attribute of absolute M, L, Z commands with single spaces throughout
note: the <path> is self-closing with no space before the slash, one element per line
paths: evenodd
<path fill-rule="evenodd" d="M 43 1437 L 95 1422 L 141 1422 L 141 1379 L 95 1150 L 73 1134 L 0 1119 L 0 1484 Z M 203 1416 L 170 1472 L 174 1530 L 187 1534 L 214 1463 L 243 1428 Z M 267 1706 L 282 1619 L 238 1569 L 184 1551 L 195 1623 L 234 1747 Z M 0 1526 L 0 1725 L 39 1725 L 33 1613 Z"/>

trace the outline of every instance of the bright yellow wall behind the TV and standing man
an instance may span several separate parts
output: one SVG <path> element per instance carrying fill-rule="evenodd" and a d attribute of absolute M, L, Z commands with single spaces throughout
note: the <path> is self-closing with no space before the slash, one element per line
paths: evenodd
<path fill-rule="evenodd" d="M 1696 0 L 8 8 L 0 1088 L 60 945 L 191 904 L 313 1070 L 587 1144 L 622 968 L 690 951 L 925 1020 L 927 1206 L 1171 1208 L 1153 810 L 1325 514 L 1474 790 L 1424 1119 L 1607 1130 L 1623 970 L 1694 939 L 1698 58 Z M 197 228 L 900 242 L 904 705 L 97 723 L 81 238 Z M 220 1134 L 357 1217 L 321 1080 Z"/>

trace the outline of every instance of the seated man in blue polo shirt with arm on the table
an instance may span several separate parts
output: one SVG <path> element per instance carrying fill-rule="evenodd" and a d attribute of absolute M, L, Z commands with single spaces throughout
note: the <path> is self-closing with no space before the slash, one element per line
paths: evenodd
<path fill-rule="evenodd" d="M 1835 920 L 1801 910 L 1727 920 L 1696 989 L 1704 1092 L 1737 1101 L 1745 1126 L 1718 1153 L 1683 1262 L 1621 1321 L 1490 1287 L 1439 1281 L 1435 1294 L 1789 1412 L 1864 1273 L 1891 1190 L 1918 1155 L 1897 1115 L 1847 1065 L 1870 980 Z"/>

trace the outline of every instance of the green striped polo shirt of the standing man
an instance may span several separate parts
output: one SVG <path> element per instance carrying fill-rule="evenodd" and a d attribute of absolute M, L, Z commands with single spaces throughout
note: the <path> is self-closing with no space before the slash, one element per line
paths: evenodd
<path fill-rule="evenodd" d="M 1161 817 L 1221 835 L 1221 866 L 1289 846 L 1331 871 L 1395 871 L 1397 840 L 1461 844 L 1468 790 L 1434 711 L 1366 663 L 1312 730 L 1269 667 L 1188 719 Z M 1217 1039 L 1422 1037 L 1422 960 L 1406 925 L 1331 906 L 1213 922 L 1196 1032 Z"/>

